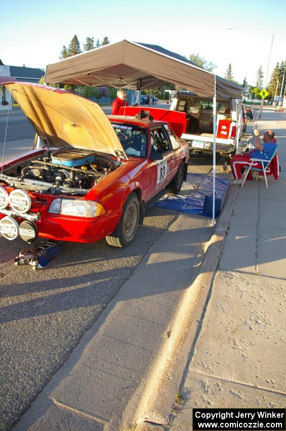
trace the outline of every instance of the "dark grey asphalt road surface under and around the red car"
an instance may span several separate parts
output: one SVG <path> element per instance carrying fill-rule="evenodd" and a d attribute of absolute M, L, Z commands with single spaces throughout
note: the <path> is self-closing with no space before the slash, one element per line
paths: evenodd
<path fill-rule="evenodd" d="M 6 127 L 2 120 L 3 116 L 1 145 Z M 14 114 L 10 120 L 7 144 L 18 142 L 21 148 L 21 142 L 26 145 L 23 139 L 33 138 L 33 131 L 21 115 Z M 218 160 L 218 172 L 223 161 Z M 189 171 L 211 169 L 211 156 L 192 157 Z M 176 211 L 153 207 L 127 248 L 113 248 L 105 240 L 65 243 L 63 252 L 43 270 L 14 265 L 0 270 L 0 430 L 9 429 L 29 407 L 177 217 Z M 0 262 L 13 259 L 25 247 L 20 239 L 0 238 Z"/>

